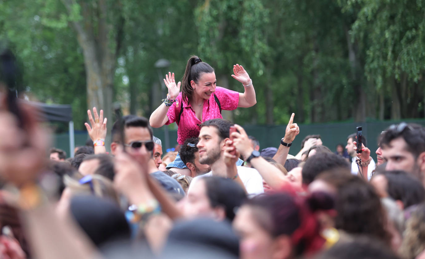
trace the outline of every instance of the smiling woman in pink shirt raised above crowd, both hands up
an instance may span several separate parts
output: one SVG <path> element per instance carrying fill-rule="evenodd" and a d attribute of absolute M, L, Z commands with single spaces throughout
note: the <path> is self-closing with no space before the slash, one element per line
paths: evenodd
<path fill-rule="evenodd" d="M 243 84 L 244 93 L 218 87 L 214 69 L 208 63 L 202 62 L 198 56 L 191 56 L 187 61 L 182 82 L 176 83 L 174 73 L 165 75 L 164 83 L 168 94 L 150 115 L 150 126 L 159 128 L 176 122 L 177 142 L 183 144 L 187 138 L 199 135 L 199 125 L 204 121 L 223 118 L 221 110 L 255 105 L 255 90 L 246 70 L 239 64 L 233 65 L 232 77 Z M 167 168 L 186 167 L 179 155 L 174 162 Z"/>

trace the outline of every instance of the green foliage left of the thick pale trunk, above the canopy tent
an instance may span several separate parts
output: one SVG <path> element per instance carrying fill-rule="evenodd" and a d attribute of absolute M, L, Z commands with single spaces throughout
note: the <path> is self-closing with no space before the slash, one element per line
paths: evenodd
<path fill-rule="evenodd" d="M 87 109 L 82 53 L 66 16 L 51 15 L 52 9 L 63 5 L 51 2 L 0 1 L 0 39 L 14 49 L 22 64 L 27 95 L 42 102 L 71 104 L 74 123 L 81 129 Z"/>

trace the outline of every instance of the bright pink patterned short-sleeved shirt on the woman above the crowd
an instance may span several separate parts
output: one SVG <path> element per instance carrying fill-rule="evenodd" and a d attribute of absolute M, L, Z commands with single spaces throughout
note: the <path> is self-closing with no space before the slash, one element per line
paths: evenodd
<path fill-rule="evenodd" d="M 215 95 L 221 104 L 221 110 L 235 110 L 239 103 L 239 93 L 223 87 L 215 87 Z M 180 109 L 183 109 L 181 113 L 180 122 L 177 129 L 177 142 L 183 144 L 183 142 L 190 137 L 199 136 L 199 124 L 210 119 L 223 118 L 220 114 L 218 104 L 215 102 L 214 95 L 210 96 L 210 99 L 204 100 L 204 107 L 202 110 L 202 121 L 200 121 L 193 111 L 192 107 L 186 101 L 183 101 L 183 107 L 181 104 L 181 93 L 177 96 L 176 101 L 168 109 L 167 117 L 168 121 L 166 125 L 176 122 L 178 120 L 178 114 Z"/>

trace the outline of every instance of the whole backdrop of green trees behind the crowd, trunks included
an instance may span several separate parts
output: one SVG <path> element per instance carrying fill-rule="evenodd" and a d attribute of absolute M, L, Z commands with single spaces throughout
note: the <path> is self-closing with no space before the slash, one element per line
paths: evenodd
<path fill-rule="evenodd" d="M 233 64 L 249 72 L 258 103 L 224 114 L 239 124 L 285 124 L 292 112 L 300 123 L 423 118 L 423 5 L 0 0 L 0 35 L 22 60 L 27 90 L 73 104 L 79 129 L 93 100 L 148 117 L 166 92 L 161 78 L 172 71 L 181 79 L 191 54 L 215 68 L 223 87 L 243 91 Z M 158 59 L 170 65 L 155 68 Z"/>

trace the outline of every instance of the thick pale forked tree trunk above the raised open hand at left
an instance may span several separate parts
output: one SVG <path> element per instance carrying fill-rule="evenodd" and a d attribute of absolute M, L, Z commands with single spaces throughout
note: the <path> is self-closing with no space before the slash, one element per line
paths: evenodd
<path fill-rule="evenodd" d="M 72 0 L 62 0 L 62 3 L 70 13 L 73 5 L 77 4 Z M 87 81 L 87 105 L 89 109 L 92 107 L 96 107 L 97 110 L 102 109 L 104 117 L 108 118 L 108 128 L 111 128 L 113 123 L 112 90 L 116 53 L 121 46 L 122 37 L 119 35 L 122 32 L 124 20 L 120 20 L 116 28 L 116 38 L 112 38 L 114 35 L 112 19 L 108 19 L 111 10 L 106 1 L 99 0 L 96 5 L 82 1 L 80 6 L 82 20 L 75 20 L 71 24 L 77 31 L 77 40 L 83 50 Z M 97 16 L 93 17 L 93 14 L 97 14 Z M 96 28 L 93 23 L 94 19 L 96 19 Z"/>

